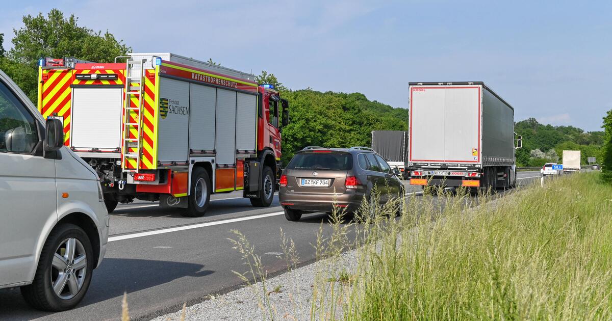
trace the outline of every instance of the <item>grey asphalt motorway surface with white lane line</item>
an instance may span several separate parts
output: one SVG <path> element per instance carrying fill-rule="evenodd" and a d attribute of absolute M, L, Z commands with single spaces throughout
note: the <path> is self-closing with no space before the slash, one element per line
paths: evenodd
<path fill-rule="evenodd" d="M 519 172 L 519 188 L 539 177 L 539 172 Z M 408 186 L 406 191 L 419 194 L 420 188 Z M 255 208 L 241 194 L 214 195 L 201 218 L 184 218 L 177 210 L 150 202 L 119 205 L 111 215 L 105 259 L 94 270 L 79 306 L 58 313 L 35 311 L 19 289 L 2 289 L 0 320 L 117 320 L 124 292 L 132 319 L 151 319 L 177 311 L 184 302 L 198 303 L 209 294 L 236 289 L 242 281 L 233 270 L 246 267 L 228 241 L 234 237 L 231 230 L 241 231 L 255 245 L 271 275 L 286 270 L 285 260 L 277 257 L 282 253 L 281 228 L 296 243 L 301 264 L 314 260 L 312 244 L 327 215 L 314 213 L 289 222 L 277 197 L 271 207 Z M 324 229 L 329 232 L 325 224 Z"/>

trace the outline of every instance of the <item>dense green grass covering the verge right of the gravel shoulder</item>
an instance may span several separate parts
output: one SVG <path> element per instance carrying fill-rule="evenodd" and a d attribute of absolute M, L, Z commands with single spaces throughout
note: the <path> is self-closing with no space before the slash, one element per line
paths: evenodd
<path fill-rule="evenodd" d="M 450 206 L 435 223 L 423 223 L 434 207 L 406 208 L 369 232 L 378 248 L 362 252 L 343 319 L 612 319 L 612 187 L 598 173 Z M 417 229 L 401 228 L 409 217 Z"/>

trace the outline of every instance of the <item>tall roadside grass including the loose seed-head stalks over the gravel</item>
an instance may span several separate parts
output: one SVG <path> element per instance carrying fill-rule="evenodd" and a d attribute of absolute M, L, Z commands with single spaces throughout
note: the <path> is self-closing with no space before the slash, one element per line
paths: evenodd
<path fill-rule="evenodd" d="M 612 319 L 612 186 L 599 174 L 502 198 L 428 188 L 374 204 L 364 202 L 350 224 L 335 211 L 331 232 L 319 228 L 310 315 L 298 319 Z M 261 260 L 234 233 L 250 266 L 243 277 L 263 284 L 263 319 L 283 319 L 267 298 Z M 282 243 L 292 270 L 293 242 L 282 234 Z M 343 256 L 348 248 L 357 260 Z"/>

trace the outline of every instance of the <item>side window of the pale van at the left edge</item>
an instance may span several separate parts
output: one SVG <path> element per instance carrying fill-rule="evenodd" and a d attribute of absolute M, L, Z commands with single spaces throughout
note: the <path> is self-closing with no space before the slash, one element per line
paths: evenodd
<path fill-rule="evenodd" d="M 0 82 L 0 152 L 29 154 L 38 141 L 34 117 Z"/>

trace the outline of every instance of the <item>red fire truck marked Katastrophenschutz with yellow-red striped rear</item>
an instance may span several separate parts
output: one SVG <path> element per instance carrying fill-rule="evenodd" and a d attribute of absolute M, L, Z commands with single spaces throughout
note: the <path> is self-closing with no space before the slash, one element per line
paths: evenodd
<path fill-rule="evenodd" d="M 170 53 L 41 59 L 38 108 L 98 172 L 109 212 L 141 199 L 201 216 L 213 193 L 274 198 L 288 103 L 254 80 Z"/>

